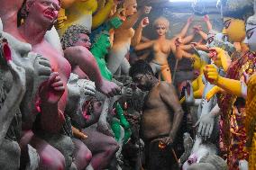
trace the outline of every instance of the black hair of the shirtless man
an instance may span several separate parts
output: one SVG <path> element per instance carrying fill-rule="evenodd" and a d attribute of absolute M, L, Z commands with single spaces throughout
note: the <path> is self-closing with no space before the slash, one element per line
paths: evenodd
<path fill-rule="evenodd" d="M 138 61 L 136 61 L 129 70 L 129 76 L 134 77 L 135 75 L 138 75 L 138 74 L 143 74 L 143 75 L 150 74 L 154 76 L 151 65 L 142 59 L 139 59 Z"/>

